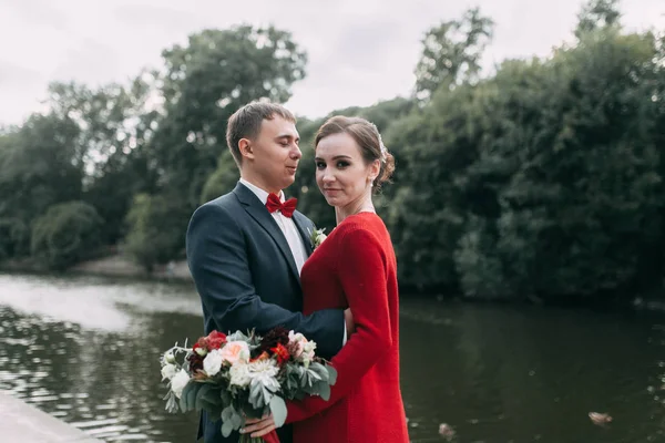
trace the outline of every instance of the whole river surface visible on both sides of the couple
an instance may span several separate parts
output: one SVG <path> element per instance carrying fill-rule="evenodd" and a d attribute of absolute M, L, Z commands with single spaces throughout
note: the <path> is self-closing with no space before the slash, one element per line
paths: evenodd
<path fill-rule="evenodd" d="M 659 442 L 665 321 L 402 300 L 413 442 Z M 104 441 L 188 442 L 164 411 L 158 354 L 201 334 L 190 286 L 0 275 L 0 389 Z M 607 412 L 608 426 L 590 411 Z"/>

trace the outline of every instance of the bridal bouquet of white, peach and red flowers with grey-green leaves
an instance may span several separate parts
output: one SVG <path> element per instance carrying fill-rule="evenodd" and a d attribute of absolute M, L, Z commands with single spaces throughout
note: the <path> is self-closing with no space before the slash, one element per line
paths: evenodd
<path fill-rule="evenodd" d="M 316 343 L 301 333 L 275 328 L 259 337 L 254 331 L 224 334 L 213 331 L 192 348 L 177 343 L 161 358 L 162 381 L 168 393 L 166 410 L 205 410 L 222 419 L 222 434 L 245 424 L 245 418 L 268 413 L 286 419 L 285 400 L 306 394 L 330 396 L 337 372 L 315 354 Z M 241 435 L 241 442 L 260 442 Z M 277 435 L 266 435 L 277 442 Z"/>

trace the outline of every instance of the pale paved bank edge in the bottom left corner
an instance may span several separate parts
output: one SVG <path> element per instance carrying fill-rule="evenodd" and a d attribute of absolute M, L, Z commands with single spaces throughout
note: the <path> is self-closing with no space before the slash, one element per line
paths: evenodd
<path fill-rule="evenodd" d="M 0 429 L 6 443 L 101 443 L 83 431 L 0 391 Z"/>

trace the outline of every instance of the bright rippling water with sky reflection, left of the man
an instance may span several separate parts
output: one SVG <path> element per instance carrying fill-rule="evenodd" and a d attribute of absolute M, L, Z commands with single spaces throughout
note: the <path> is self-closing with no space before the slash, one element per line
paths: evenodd
<path fill-rule="evenodd" d="M 164 411 L 161 350 L 201 334 L 188 286 L 0 276 L 0 389 L 105 441 L 193 441 Z"/>

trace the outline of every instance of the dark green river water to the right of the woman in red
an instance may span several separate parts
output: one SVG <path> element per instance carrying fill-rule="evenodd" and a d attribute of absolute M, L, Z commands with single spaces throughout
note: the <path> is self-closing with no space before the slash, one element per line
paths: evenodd
<path fill-rule="evenodd" d="M 436 435 L 440 422 L 461 442 L 665 441 L 663 320 L 402 303 L 407 415 L 428 429 L 413 441 Z M 614 421 L 593 425 L 591 411 Z"/>

